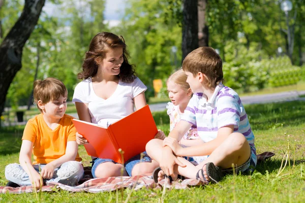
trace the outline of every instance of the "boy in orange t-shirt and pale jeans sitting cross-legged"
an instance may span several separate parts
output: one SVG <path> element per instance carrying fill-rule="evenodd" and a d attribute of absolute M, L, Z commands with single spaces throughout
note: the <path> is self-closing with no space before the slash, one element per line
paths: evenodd
<path fill-rule="evenodd" d="M 20 165 L 12 163 L 5 168 L 5 177 L 9 180 L 7 186 L 32 184 L 41 188 L 43 182 L 75 186 L 83 177 L 73 117 L 65 114 L 67 94 L 66 86 L 57 79 L 34 82 L 34 99 L 41 114 L 26 123 L 19 154 Z"/>

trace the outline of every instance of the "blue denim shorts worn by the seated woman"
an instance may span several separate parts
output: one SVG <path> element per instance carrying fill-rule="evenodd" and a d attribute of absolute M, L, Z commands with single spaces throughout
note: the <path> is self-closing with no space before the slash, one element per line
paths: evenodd
<path fill-rule="evenodd" d="M 117 163 L 112 159 L 103 159 L 103 158 L 93 159 L 90 163 L 92 163 L 91 172 L 92 172 L 92 176 L 94 178 L 96 178 L 95 171 L 96 171 L 98 165 L 100 165 L 101 163 L 104 163 L 104 162 Z M 128 173 L 129 176 L 131 176 L 131 172 L 133 170 L 133 167 L 140 162 L 151 162 L 151 158 L 147 155 L 146 152 L 143 152 L 142 160 L 141 160 L 141 155 L 138 154 L 138 155 L 132 157 L 131 159 L 129 159 L 128 161 L 126 161 L 124 166 L 125 166 L 125 170 L 126 170 L 126 172 Z"/>

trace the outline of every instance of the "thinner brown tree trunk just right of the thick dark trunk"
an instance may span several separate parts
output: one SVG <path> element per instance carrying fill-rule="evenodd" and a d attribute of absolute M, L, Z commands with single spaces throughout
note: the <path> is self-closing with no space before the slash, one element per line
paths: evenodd
<path fill-rule="evenodd" d="M 198 0 L 198 45 L 208 47 L 208 26 L 206 25 L 207 0 Z"/>

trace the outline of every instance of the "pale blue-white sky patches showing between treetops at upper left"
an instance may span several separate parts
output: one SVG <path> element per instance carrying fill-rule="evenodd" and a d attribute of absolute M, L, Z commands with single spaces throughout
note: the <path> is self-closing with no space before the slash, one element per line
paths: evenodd
<path fill-rule="evenodd" d="M 121 17 L 123 17 L 124 9 L 125 9 L 125 1 L 126 0 L 106 0 L 104 17 L 106 22 L 108 22 L 110 26 L 117 25 Z M 79 1 L 77 1 L 77 3 L 78 2 Z M 43 7 L 43 11 L 45 11 L 48 15 L 53 15 L 53 16 L 60 15 L 60 12 L 58 12 L 56 5 L 53 5 L 48 1 Z"/>

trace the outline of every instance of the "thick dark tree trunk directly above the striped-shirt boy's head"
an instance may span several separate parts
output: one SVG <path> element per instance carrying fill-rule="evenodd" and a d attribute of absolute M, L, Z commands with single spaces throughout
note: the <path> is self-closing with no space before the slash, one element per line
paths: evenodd
<path fill-rule="evenodd" d="M 182 60 L 198 48 L 198 1 L 183 1 Z"/>

